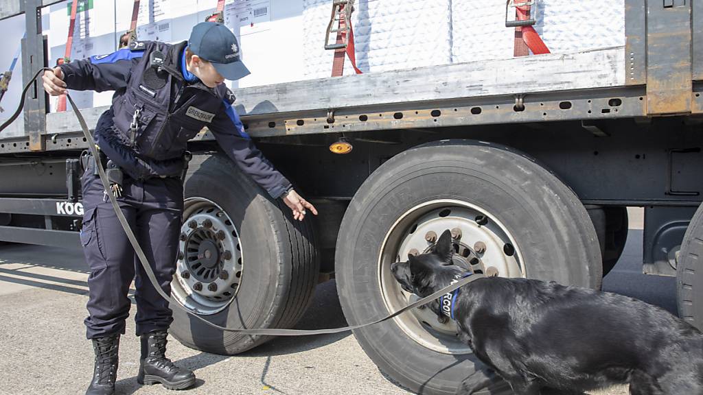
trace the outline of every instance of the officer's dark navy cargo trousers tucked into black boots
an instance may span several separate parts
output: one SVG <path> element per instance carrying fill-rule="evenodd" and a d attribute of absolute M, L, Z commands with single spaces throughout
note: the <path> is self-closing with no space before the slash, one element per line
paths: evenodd
<path fill-rule="evenodd" d="M 157 294 L 146 276 L 93 169 L 84 172 L 82 188 L 81 244 L 90 269 L 86 336 L 93 339 L 124 334 L 131 305 L 127 293 L 133 279 L 136 335 L 166 330 L 173 320 L 168 302 Z M 183 212 L 181 180 L 171 177 L 138 181 L 125 174 L 122 197 L 117 202 L 162 290 L 170 294 Z"/>

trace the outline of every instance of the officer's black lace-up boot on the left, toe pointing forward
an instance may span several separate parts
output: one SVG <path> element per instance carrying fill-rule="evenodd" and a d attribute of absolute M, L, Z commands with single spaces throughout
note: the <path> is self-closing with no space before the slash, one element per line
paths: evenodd
<path fill-rule="evenodd" d="M 117 377 L 117 349 L 120 346 L 120 335 L 98 337 L 93 339 L 95 349 L 95 371 L 93 381 L 86 395 L 115 394 L 115 377 Z"/>

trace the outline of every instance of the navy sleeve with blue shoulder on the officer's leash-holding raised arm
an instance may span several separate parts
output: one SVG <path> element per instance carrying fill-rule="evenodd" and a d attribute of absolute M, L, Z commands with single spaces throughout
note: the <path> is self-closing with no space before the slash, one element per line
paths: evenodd
<path fill-rule="evenodd" d="M 75 91 L 116 91 L 127 86 L 127 77 L 143 51 L 122 48 L 102 56 L 60 65 L 63 81 Z"/>

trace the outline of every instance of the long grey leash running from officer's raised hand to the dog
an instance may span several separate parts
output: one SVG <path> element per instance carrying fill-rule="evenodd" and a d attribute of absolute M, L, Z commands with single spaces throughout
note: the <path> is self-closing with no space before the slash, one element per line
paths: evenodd
<path fill-rule="evenodd" d="M 22 108 L 25 106 L 25 95 L 27 93 L 27 90 L 30 89 L 30 86 L 32 85 L 32 82 L 34 82 L 34 79 L 37 79 L 39 77 L 39 73 L 47 70 L 49 72 L 53 72 L 49 67 L 42 67 L 37 74 L 30 79 L 30 82 L 27 83 L 27 86 L 25 86 L 25 89 L 22 90 L 22 98 L 20 99 L 20 105 L 15 111 L 15 113 L 10 117 L 6 122 L 4 122 L 2 125 L 0 125 L 0 133 L 9 125 L 11 124 L 19 115 L 20 112 L 22 111 Z M 76 117 L 78 118 L 78 122 L 81 125 L 81 129 L 83 131 L 83 134 L 86 138 L 86 141 L 88 141 L 88 147 L 91 150 L 91 153 L 93 154 L 93 157 L 100 157 L 100 154 L 98 153 L 98 149 L 96 148 L 95 141 L 93 140 L 93 136 L 90 133 L 88 129 L 88 125 L 85 122 L 85 119 L 83 118 L 83 115 L 81 112 L 78 110 L 77 106 L 73 102 L 73 99 L 71 96 L 66 93 L 66 97 L 68 98 L 68 101 L 71 103 L 71 108 L 73 109 L 73 112 L 75 112 Z M 159 283 L 156 279 L 156 276 L 154 274 L 154 271 L 152 270 L 151 266 L 149 265 L 148 259 L 146 259 L 146 255 L 144 255 L 144 252 L 141 250 L 141 246 L 139 245 L 139 242 L 136 240 L 136 237 L 134 236 L 134 233 L 131 231 L 131 228 L 129 227 L 129 223 L 127 222 L 127 219 L 124 218 L 124 214 L 122 214 L 122 210 L 120 209 L 120 206 L 117 205 L 117 199 L 115 198 L 115 195 L 112 194 L 110 190 L 110 183 L 108 181 L 108 176 L 105 174 L 105 169 L 103 168 L 103 164 L 101 163 L 100 160 L 95 161 L 96 166 L 98 167 L 98 173 L 100 174 L 100 180 L 103 183 L 103 188 L 107 191 L 107 195 L 110 198 L 110 203 L 112 203 L 112 209 L 115 209 L 115 214 L 117 215 L 117 219 L 120 220 L 120 225 L 122 225 L 122 229 L 124 230 L 124 233 L 127 234 L 127 238 L 129 239 L 129 242 L 131 243 L 132 247 L 134 247 L 134 252 L 136 252 L 137 257 L 139 258 L 139 261 L 141 262 L 141 266 L 143 266 L 144 271 L 146 271 L 146 276 L 149 278 L 151 284 L 155 288 L 155 290 L 158 292 L 158 294 L 161 295 L 162 298 L 164 298 L 169 304 L 175 305 L 177 308 L 181 309 L 182 311 L 185 311 L 186 313 L 190 314 L 194 318 L 198 318 L 198 320 L 201 320 L 202 323 L 205 323 L 205 325 L 208 325 L 212 328 L 215 328 L 217 330 L 221 330 L 224 332 L 238 332 L 238 333 L 243 333 L 245 335 L 268 335 L 268 336 L 307 336 L 307 335 L 325 335 L 325 334 L 332 334 L 332 333 L 340 333 L 340 332 L 347 332 L 347 330 L 356 330 L 360 329 L 369 325 L 375 325 L 378 323 L 382 323 L 385 320 L 389 320 L 391 318 L 394 318 L 396 316 L 399 316 L 402 313 L 405 313 L 408 310 L 414 309 L 415 307 L 418 306 L 423 306 L 425 304 L 428 304 L 432 302 L 435 299 L 439 299 L 443 294 L 453 292 L 454 290 L 458 290 L 459 287 L 462 287 L 463 285 L 466 285 L 468 283 L 471 283 L 472 281 L 478 280 L 479 278 L 484 278 L 485 276 L 483 274 L 473 274 L 471 276 L 462 278 L 461 280 L 458 280 L 456 283 L 453 283 L 451 285 L 448 285 L 447 287 L 442 288 L 441 290 L 434 292 L 434 294 L 431 294 L 428 297 L 424 297 L 414 303 L 408 304 L 408 306 L 405 306 L 404 308 L 400 309 L 399 311 L 396 311 L 395 313 L 389 314 L 388 316 L 385 316 L 383 318 L 380 318 L 378 320 L 375 320 L 370 323 L 365 323 L 365 324 L 359 324 L 359 325 L 351 325 L 351 326 L 346 326 L 344 328 L 330 328 L 330 329 L 318 329 L 318 330 L 297 330 L 297 329 L 276 329 L 276 328 L 254 328 L 254 329 L 245 329 L 245 328 L 228 328 L 224 326 L 220 326 L 214 323 L 209 322 L 205 318 L 202 318 L 201 316 L 198 316 L 197 314 L 193 313 L 192 311 L 189 311 L 185 307 L 181 306 L 178 302 L 176 302 L 174 299 L 169 297 L 169 295 L 164 292 L 164 290 L 161 289 L 159 286 Z"/>

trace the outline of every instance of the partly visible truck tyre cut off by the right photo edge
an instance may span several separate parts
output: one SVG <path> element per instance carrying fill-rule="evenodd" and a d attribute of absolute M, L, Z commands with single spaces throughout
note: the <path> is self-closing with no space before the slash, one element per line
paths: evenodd
<path fill-rule="evenodd" d="M 693 214 L 676 259 L 678 316 L 703 330 L 703 205 Z"/>

